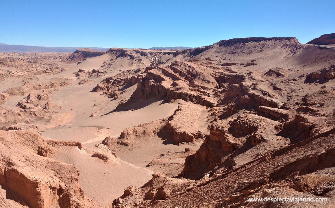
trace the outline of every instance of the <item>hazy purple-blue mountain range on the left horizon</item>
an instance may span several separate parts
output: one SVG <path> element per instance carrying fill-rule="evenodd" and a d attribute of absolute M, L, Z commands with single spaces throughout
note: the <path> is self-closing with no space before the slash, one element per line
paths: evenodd
<path fill-rule="evenodd" d="M 7 45 L 0 43 L 1 53 L 73 53 L 78 48 L 88 48 L 88 47 L 43 47 L 43 46 L 18 46 L 18 45 Z M 110 48 L 90 48 L 95 51 L 107 51 Z"/>

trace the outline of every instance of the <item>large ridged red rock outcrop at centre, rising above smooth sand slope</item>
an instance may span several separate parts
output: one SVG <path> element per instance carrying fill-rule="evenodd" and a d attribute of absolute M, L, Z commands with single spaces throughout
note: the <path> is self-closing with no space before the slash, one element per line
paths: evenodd
<path fill-rule="evenodd" d="M 206 68 L 176 61 L 169 67 L 148 67 L 129 102 L 138 98 L 183 99 L 202 106 L 214 107 L 216 102 L 208 96 L 218 84 Z"/>

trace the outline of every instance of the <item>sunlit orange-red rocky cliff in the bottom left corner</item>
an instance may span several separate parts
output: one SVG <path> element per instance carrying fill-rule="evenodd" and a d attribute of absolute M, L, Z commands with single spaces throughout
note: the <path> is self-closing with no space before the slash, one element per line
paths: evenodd
<path fill-rule="evenodd" d="M 10 199 L 29 208 L 90 207 L 79 187 L 78 169 L 48 158 L 54 149 L 40 133 L 0 131 L 0 141 L 0 186 Z"/>

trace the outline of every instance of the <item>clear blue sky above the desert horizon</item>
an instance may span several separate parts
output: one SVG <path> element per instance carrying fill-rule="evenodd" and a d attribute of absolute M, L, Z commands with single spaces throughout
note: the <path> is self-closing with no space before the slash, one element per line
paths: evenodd
<path fill-rule="evenodd" d="M 5 1 L 0 43 L 150 48 L 212 45 L 245 37 L 335 32 L 335 1 Z"/>

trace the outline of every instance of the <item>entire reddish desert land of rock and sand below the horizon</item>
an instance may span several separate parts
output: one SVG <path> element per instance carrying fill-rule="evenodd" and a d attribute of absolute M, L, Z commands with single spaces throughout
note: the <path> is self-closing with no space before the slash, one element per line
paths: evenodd
<path fill-rule="evenodd" d="M 335 207 L 335 33 L 0 53 L 0 207 Z M 323 197 L 327 202 L 249 202 Z"/>

